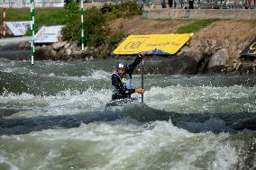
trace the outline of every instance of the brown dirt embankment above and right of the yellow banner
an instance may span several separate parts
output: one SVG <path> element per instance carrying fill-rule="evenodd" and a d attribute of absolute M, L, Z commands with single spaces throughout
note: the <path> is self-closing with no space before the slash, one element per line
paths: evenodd
<path fill-rule="evenodd" d="M 150 20 L 143 19 L 140 16 L 135 16 L 129 19 L 116 19 L 111 22 L 110 28 L 112 31 L 123 31 L 125 34 L 155 34 L 155 33 L 175 33 L 178 27 L 186 25 L 192 20 Z M 237 21 L 224 20 L 213 22 L 206 28 L 194 32 L 194 36 L 187 42 L 177 54 L 177 56 L 188 57 L 187 62 L 191 58 L 196 61 L 197 70 L 203 71 L 209 65 L 213 66 L 211 71 L 233 71 L 241 69 L 242 62 L 240 60 L 240 53 L 252 40 L 256 39 L 256 20 L 255 21 Z M 211 59 L 211 57 L 215 56 Z M 220 59 L 224 58 L 224 59 Z M 222 62 L 212 63 L 214 60 L 223 60 Z M 178 60 L 177 62 L 184 62 Z M 254 62 L 255 63 L 255 62 Z M 189 67 L 189 64 L 184 64 Z M 181 66 L 181 67 L 184 67 Z M 204 66 L 203 66 L 204 65 Z M 207 67 L 208 65 L 208 67 Z M 221 66 L 218 66 L 221 65 Z M 255 66 L 254 66 L 255 65 Z M 255 69 L 256 63 L 250 69 Z M 202 67 L 203 66 L 203 67 Z M 198 68 L 201 67 L 201 68 Z M 239 68 L 240 67 L 240 68 Z M 198 70 L 199 69 L 199 70 Z M 166 70 L 165 70 L 166 71 Z M 169 70 L 170 74 L 187 73 L 173 72 Z M 255 70 L 252 70 L 255 72 Z M 189 72 L 188 72 L 189 74 Z"/>

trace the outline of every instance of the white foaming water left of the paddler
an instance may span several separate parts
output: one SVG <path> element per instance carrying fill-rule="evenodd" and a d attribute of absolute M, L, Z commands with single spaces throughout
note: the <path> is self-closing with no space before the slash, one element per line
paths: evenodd
<path fill-rule="evenodd" d="M 56 95 L 9 93 L 0 95 L 0 101 L 9 108 L 21 109 L 21 112 L 11 115 L 10 118 L 32 117 L 100 111 L 105 109 L 105 104 L 111 100 L 111 95 L 111 90 L 89 88 L 83 93 L 67 90 Z"/>

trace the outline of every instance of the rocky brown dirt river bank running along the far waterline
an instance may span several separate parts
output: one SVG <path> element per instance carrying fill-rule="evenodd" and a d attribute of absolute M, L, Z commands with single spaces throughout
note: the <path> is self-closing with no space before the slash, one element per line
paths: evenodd
<path fill-rule="evenodd" d="M 118 18 L 109 23 L 112 32 L 123 31 L 130 34 L 157 34 L 174 33 L 180 26 L 193 20 L 152 20 L 141 16 L 131 18 Z M 134 27 L 133 25 L 137 25 Z M 198 74 L 198 73 L 254 73 L 255 61 L 244 61 L 240 58 L 242 49 L 245 49 L 256 38 L 255 21 L 220 20 L 213 22 L 206 28 L 194 32 L 194 36 L 178 51 L 175 56 L 147 57 L 146 61 L 158 61 L 145 67 L 150 74 Z M 6 46 L 5 46 L 6 47 Z M 0 47 L 1 49 L 1 47 Z M 3 49 L 3 48 L 2 48 Z M 28 41 L 20 41 L 18 49 L 28 50 Z M 102 47 L 95 49 L 81 47 L 72 41 L 37 45 L 35 47 L 36 59 L 91 61 L 102 59 Z M 21 54 L 21 53 L 20 53 Z M 23 53 L 27 55 L 27 53 Z M 1 54 L 0 54 L 1 55 Z M 2 55 L 3 56 L 3 55 Z M 108 55 L 105 59 L 133 59 Z"/>

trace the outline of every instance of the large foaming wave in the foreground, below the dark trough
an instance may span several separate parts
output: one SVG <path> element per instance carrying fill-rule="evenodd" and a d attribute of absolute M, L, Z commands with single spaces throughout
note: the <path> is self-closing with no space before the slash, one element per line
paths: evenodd
<path fill-rule="evenodd" d="M 231 169 L 238 153 L 229 134 L 189 133 L 170 121 L 140 125 L 131 120 L 94 122 L 67 130 L 43 130 L 20 135 L 30 148 L 12 150 L 15 165 L 36 169 Z M 21 145 L 18 136 L 0 138 L 0 143 Z M 10 146 L 12 147 L 12 146 Z M 5 148 L 1 148 L 5 150 Z M 40 150 L 39 150 L 40 149 Z M 32 159 L 37 152 L 41 157 Z M 12 154 L 12 153 L 10 153 Z M 5 157 L 10 156 L 7 155 Z M 31 162 L 31 159 L 34 161 Z"/>

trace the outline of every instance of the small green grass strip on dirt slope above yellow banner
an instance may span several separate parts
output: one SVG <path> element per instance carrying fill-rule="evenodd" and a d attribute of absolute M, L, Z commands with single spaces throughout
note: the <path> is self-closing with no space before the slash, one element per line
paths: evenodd
<path fill-rule="evenodd" d="M 205 28 L 206 26 L 216 21 L 218 21 L 218 19 L 205 19 L 205 20 L 197 20 L 195 22 L 190 22 L 187 25 L 179 27 L 176 33 L 195 32 L 202 28 Z"/>

